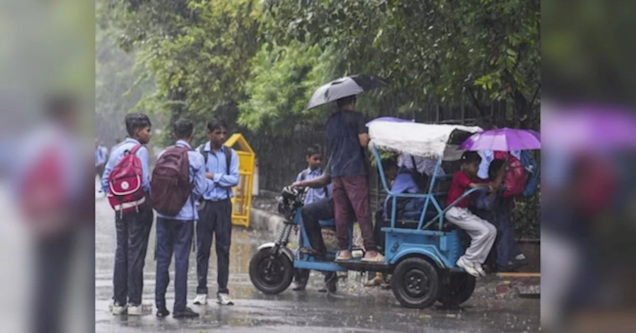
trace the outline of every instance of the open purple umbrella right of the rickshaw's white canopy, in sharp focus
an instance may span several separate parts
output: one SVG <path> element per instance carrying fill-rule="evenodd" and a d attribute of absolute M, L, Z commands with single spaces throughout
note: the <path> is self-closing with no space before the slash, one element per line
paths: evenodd
<path fill-rule="evenodd" d="M 462 145 L 462 150 L 493 150 L 509 152 L 511 150 L 541 149 L 541 140 L 537 131 L 525 129 L 500 128 L 471 135 Z"/>

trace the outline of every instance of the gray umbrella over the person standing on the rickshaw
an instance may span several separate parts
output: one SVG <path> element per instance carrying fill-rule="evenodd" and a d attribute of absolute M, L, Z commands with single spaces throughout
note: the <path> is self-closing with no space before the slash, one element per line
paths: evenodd
<path fill-rule="evenodd" d="M 389 85 L 382 79 L 368 74 L 340 77 L 340 79 L 335 79 L 316 89 L 309 103 L 307 103 L 307 109 L 386 86 Z"/>

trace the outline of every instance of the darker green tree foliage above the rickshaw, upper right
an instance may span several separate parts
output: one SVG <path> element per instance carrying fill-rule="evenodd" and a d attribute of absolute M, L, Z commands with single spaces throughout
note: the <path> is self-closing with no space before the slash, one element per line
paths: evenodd
<path fill-rule="evenodd" d="M 388 105 L 459 103 L 469 74 L 478 102 L 507 98 L 522 114 L 538 102 L 538 0 L 301 0 L 266 8 L 272 39 L 333 46 L 343 74 L 387 79 L 391 90 L 379 98 Z"/>

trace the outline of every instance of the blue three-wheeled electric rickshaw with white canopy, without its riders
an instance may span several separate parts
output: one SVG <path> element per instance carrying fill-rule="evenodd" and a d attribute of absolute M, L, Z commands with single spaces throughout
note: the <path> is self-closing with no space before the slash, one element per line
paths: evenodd
<path fill-rule="evenodd" d="M 331 256 L 317 259 L 287 244 L 294 226 L 300 228 L 301 244 L 309 244 L 303 228 L 300 209 L 305 192 L 285 188 L 279 201 L 279 211 L 286 223 L 277 232 L 273 242 L 262 244 L 251 259 L 249 275 L 252 284 L 265 294 L 278 294 L 291 284 L 296 269 L 317 271 L 381 271 L 391 275 L 391 289 L 397 301 L 407 308 L 427 308 L 436 301 L 445 306 L 457 306 L 471 297 L 475 278 L 455 263 L 464 254 L 462 230 L 455 228 L 444 218 L 449 207 L 467 195 L 479 190 L 474 188 L 450 206 L 445 206 L 445 196 L 452 176 L 441 175 L 443 162 L 459 160 L 463 151 L 459 145 L 480 127 L 452 124 L 420 124 L 415 122 L 375 121 L 369 124 L 371 142 L 369 148 L 377 161 L 380 182 L 389 197 L 389 219 L 385 225 L 385 261 L 366 263 L 361 258 L 334 261 Z M 434 173 L 426 193 L 393 193 L 387 183 L 380 162 L 380 151 L 405 152 L 412 156 L 436 161 Z M 397 199 L 418 198 L 424 200 L 424 209 L 418 220 L 403 220 L 396 216 Z M 376 221 L 378 223 L 379 221 Z M 322 228 L 335 228 L 335 221 L 320 221 Z M 352 250 L 352 225 L 349 224 L 349 250 Z"/>

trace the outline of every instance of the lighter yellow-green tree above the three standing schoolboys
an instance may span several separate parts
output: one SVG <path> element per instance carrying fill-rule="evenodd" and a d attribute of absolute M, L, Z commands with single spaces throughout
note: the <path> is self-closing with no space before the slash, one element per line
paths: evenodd
<path fill-rule="evenodd" d="M 108 8 L 123 31 L 121 48 L 137 50 L 137 65 L 156 81 L 140 108 L 170 123 L 190 117 L 201 139 L 212 115 L 236 121 L 261 44 L 258 1 L 111 0 Z"/>

